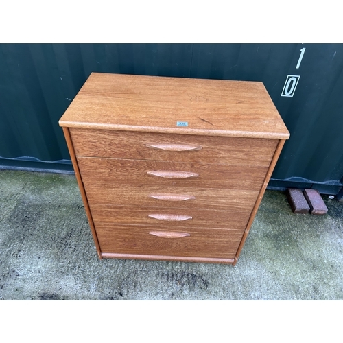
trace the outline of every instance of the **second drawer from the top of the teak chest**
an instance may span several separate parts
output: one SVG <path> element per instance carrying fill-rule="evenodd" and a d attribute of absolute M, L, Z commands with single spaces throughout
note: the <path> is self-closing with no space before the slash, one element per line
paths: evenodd
<path fill-rule="evenodd" d="M 86 190 L 94 182 L 107 188 L 117 185 L 148 187 L 200 187 L 259 191 L 268 167 L 214 165 L 116 158 L 78 157 Z"/>

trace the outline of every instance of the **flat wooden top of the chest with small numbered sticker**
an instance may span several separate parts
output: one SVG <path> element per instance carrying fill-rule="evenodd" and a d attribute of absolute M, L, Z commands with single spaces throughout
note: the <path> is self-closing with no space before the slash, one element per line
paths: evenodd
<path fill-rule="evenodd" d="M 177 122 L 187 122 L 187 127 Z M 262 82 L 91 73 L 60 126 L 288 139 Z"/>

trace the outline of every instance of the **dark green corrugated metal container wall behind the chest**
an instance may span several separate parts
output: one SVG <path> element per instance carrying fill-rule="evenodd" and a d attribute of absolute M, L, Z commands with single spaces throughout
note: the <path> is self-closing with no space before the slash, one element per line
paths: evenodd
<path fill-rule="evenodd" d="M 342 188 L 342 44 L 1 44 L 1 168 L 73 170 L 58 119 L 92 71 L 261 81 L 291 133 L 268 187 Z"/>

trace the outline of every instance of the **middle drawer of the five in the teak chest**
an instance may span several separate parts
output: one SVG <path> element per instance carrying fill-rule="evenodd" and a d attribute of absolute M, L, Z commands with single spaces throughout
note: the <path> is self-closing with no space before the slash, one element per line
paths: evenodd
<path fill-rule="evenodd" d="M 158 185 L 113 185 L 104 180 L 86 181 L 91 209 L 109 204 L 181 209 L 252 211 L 259 191 Z"/>

